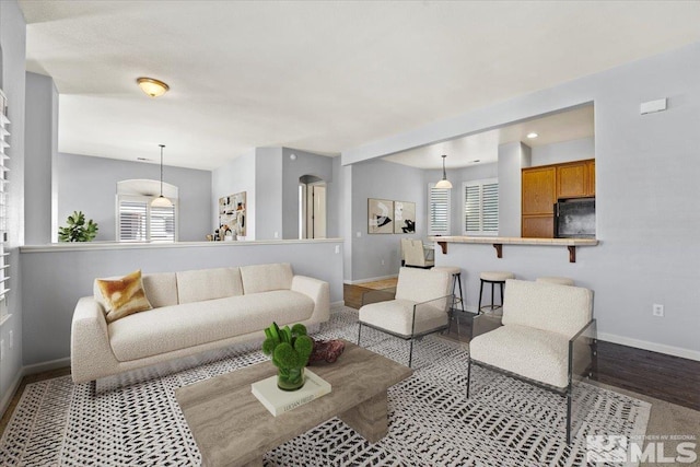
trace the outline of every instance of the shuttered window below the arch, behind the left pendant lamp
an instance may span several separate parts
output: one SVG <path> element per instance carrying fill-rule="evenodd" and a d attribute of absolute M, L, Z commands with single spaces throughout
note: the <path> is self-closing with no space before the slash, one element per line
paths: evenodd
<path fill-rule="evenodd" d="M 119 242 L 175 242 L 177 200 L 170 208 L 153 208 L 154 197 L 117 196 L 117 240 Z"/>

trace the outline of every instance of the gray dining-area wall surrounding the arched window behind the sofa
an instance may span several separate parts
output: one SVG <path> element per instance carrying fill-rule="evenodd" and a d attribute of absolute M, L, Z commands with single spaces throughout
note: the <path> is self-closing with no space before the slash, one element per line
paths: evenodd
<path fill-rule="evenodd" d="M 117 182 L 161 177 L 158 164 L 65 153 L 57 161 L 59 226 L 73 211 L 83 211 L 100 226 L 96 241 L 115 240 Z M 203 241 L 211 233 L 211 172 L 166 165 L 163 179 L 179 189 L 179 241 Z"/>

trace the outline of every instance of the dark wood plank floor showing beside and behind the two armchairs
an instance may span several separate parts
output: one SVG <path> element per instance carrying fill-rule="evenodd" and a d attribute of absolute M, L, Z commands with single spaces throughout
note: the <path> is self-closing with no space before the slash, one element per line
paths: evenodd
<path fill-rule="evenodd" d="M 370 289 L 345 285 L 346 305 L 359 308 L 362 294 Z M 447 337 L 468 341 L 471 336 L 470 313 L 457 313 Z M 596 381 L 668 402 L 700 410 L 700 362 L 612 342 L 598 341 Z"/>

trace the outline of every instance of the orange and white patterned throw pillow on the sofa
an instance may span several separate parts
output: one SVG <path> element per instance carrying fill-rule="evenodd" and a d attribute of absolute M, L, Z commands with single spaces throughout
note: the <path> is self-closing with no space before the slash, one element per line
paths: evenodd
<path fill-rule="evenodd" d="M 121 279 L 97 279 L 97 288 L 104 301 L 107 323 L 153 308 L 143 291 L 140 269 Z"/>

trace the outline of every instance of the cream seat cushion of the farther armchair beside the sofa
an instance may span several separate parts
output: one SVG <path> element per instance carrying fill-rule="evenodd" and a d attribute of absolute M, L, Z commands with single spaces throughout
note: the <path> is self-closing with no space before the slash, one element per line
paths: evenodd
<path fill-rule="evenodd" d="M 362 323 L 399 334 L 411 336 L 415 302 L 409 300 L 390 300 L 371 303 L 360 308 Z M 436 329 L 447 324 L 447 313 L 444 308 L 432 305 L 419 305 L 416 311 L 415 332 Z"/>

